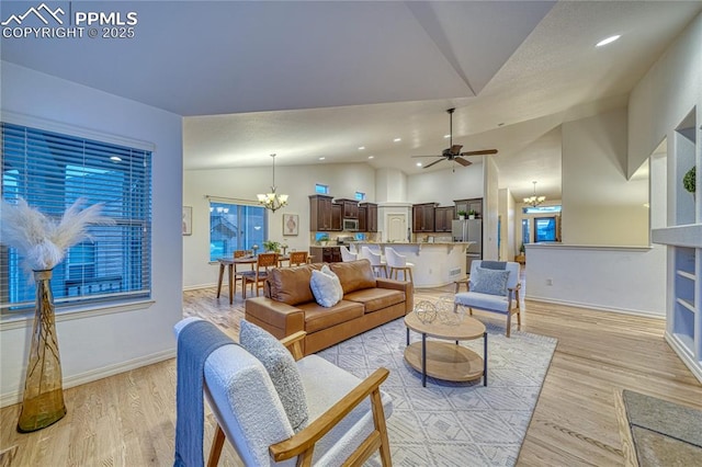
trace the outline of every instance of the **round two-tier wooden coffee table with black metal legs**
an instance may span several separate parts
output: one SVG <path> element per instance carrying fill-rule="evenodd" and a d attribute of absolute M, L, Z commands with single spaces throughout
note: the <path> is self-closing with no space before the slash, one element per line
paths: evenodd
<path fill-rule="evenodd" d="M 407 348 L 405 360 L 421 372 L 421 385 L 427 387 L 427 375 L 449 381 L 469 381 L 483 376 L 487 386 L 487 332 L 477 319 L 465 317 L 457 323 L 442 322 L 439 317 L 432 322 L 422 322 L 414 311 L 405 317 Z M 409 343 L 409 330 L 421 334 L 421 342 Z M 427 337 L 445 339 L 455 343 L 427 341 Z M 483 357 L 460 341 L 483 338 Z"/>

